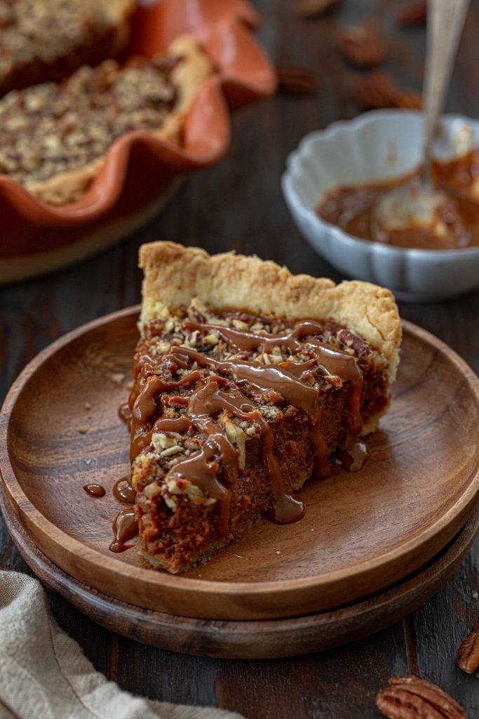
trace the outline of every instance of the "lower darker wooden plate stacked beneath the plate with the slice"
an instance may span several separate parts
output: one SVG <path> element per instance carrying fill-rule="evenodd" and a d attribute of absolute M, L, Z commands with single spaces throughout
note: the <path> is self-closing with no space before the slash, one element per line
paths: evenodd
<path fill-rule="evenodd" d="M 109 629 L 159 649 L 223 659 L 297 656 L 361 639 L 416 610 L 451 576 L 473 544 L 479 505 L 457 537 L 427 567 L 396 587 L 346 607 L 287 619 L 215 621 L 141 609 L 73 579 L 39 551 L 6 498 L 0 510 L 22 557 L 42 582 Z"/>

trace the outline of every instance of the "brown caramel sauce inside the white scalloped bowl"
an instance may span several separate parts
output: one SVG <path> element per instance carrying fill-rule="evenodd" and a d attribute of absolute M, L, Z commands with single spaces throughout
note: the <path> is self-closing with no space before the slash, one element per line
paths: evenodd
<path fill-rule="evenodd" d="M 419 171 L 418 171 L 419 174 Z M 411 223 L 407 229 L 378 232 L 374 208 L 393 188 L 406 185 L 416 173 L 378 183 L 343 186 L 325 196 L 316 208 L 327 222 L 360 239 L 416 249 L 457 249 L 479 245 L 479 148 L 448 162 L 434 161 L 434 184 L 445 192 L 430 226 Z M 437 232 L 437 226 L 442 232 Z M 436 229 L 435 229 L 436 228 Z"/>

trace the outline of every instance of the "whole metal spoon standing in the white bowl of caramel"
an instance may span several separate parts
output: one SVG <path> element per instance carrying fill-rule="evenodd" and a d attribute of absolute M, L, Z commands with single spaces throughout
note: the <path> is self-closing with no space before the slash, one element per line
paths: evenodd
<path fill-rule="evenodd" d="M 468 4 L 469 0 L 428 0 L 422 170 L 374 206 L 372 230 L 379 242 L 387 242 L 390 232 L 419 231 L 448 244 L 451 233 L 461 233 L 450 198 L 432 183 L 431 156 Z"/>

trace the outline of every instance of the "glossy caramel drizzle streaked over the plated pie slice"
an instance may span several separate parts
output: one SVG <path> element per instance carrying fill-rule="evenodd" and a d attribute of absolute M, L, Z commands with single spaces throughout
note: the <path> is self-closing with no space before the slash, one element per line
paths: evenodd
<path fill-rule="evenodd" d="M 274 434 L 269 423 L 261 415 L 259 409 L 241 392 L 241 385 L 247 383 L 261 393 L 276 391 L 287 403 L 295 406 L 306 414 L 312 424 L 312 448 L 315 455 L 315 475 L 327 477 L 330 474 L 328 447 L 321 431 L 321 405 L 319 389 L 311 383 L 315 373 L 322 372 L 326 377 L 340 377 L 348 380 L 348 411 L 345 425 L 348 432 L 348 444 L 355 444 L 353 439 L 361 432 L 363 423 L 360 413 L 361 390 L 363 375 L 355 357 L 319 340 L 312 339 L 312 334 L 321 334 L 323 328 L 315 321 L 300 321 L 286 334 L 254 334 L 250 331 L 238 331 L 217 324 L 199 324 L 189 319 L 183 321 L 186 329 L 202 333 L 214 331 L 225 342 L 236 348 L 238 352 L 267 352 L 274 347 L 291 354 L 301 352 L 309 359 L 304 362 L 285 360 L 279 365 L 262 365 L 257 360 L 251 361 L 240 357 L 220 361 L 207 357 L 194 349 L 173 345 L 169 353 L 162 357 L 162 370 L 177 372 L 187 369 L 190 362 L 207 370 L 214 369 L 218 375 L 210 375 L 205 370 L 192 370 L 181 380 L 164 380 L 158 372 L 158 362 L 141 354 L 134 368 L 136 373 L 135 387 L 131 392 L 131 461 L 148 446 L 152 435 L 157 431 L 185 432 L 192 426 L 206 435 L 199 452 L 193 457 L 177 462 L 169 470 L 169 479 L 190 480 L 203 492 L 218 500 L 218 533 L 225 536 L 228 531 L 229 505 L 231 487 L 236 482 L 238 457 L 235 446 L 231 444 L 220 423 L 215 422 L 220 414 L 236 416 L 250 421 L 261 436 L 262 457 L 266 473 L 271 482 L 273 503 L 269 518 L 278 523 L 289 523 L 301 518 L 304 505 L 298 498 L 287 492 L 282 480 L 281 470 L 274 456 Z M 301 340 L 309 337 L 306 342 Z M 174 390 L 183 390 L 201 382 L 191 395 L 179 395 L 177 403 L 185 405 L 185 414 L 178 418 L 157 416 L 159 395 Z M 122 412 L 125 419 L 129 413 Z M 220 471 L 221 470 L 221 471 Z M 219 476 L 220 475 L 220 476 Z"/>

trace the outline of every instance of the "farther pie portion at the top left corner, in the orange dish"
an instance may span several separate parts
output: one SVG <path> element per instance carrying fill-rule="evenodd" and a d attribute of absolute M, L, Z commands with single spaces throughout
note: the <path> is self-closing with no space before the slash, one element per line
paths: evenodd
<path fill-rule="evenodd" d="M 0 0 L 0 95 L 114 58 L 134 0 Z"/>

